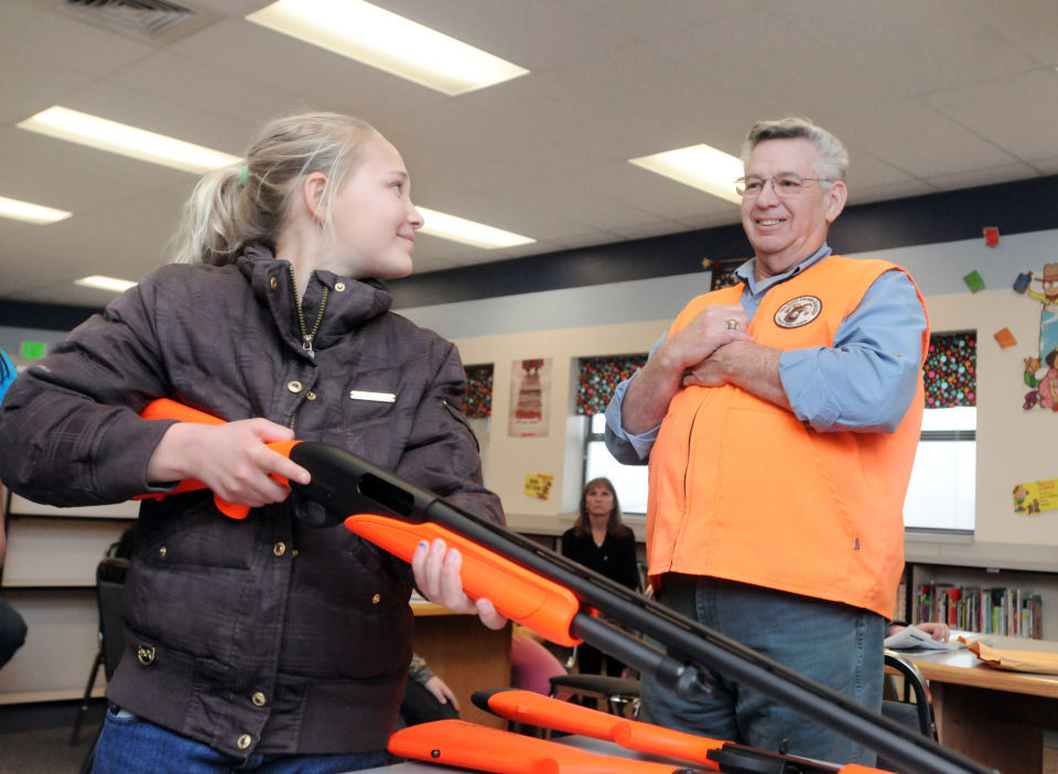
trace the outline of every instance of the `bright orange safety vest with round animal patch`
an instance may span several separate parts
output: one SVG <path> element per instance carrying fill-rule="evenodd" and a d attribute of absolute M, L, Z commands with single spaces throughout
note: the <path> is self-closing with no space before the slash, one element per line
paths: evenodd
<path fill-rule="evenodd" d="M 904 271 L 830 256 L 770 289 L 748 332 L 778 350 L 833 346 L 838 326 L 890 269 Z M 709 304 L 738 303 L 742 290 L 692 300 L 669 335 Z M 928 346 L 927 319 L 924 359 Z M 924 405 L 919 375 L 895 432 L 817 432 L 733 385 L 682 388 L 650 453 L 650 574 L 724 578 L 892 616 Z"/>

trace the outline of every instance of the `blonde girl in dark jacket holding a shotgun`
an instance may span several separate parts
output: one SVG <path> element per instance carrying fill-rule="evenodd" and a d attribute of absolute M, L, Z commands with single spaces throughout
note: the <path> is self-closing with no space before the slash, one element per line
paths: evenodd
<path fill-rule="evenodd" d="M 503 523 L 461 411 L 453 344 L 389 312 L 422 218 L 397 149 L 334 114 L 276 120 L 241 169 L 205 175 L 176 262 L 77 327 L 9 391 L 0 477 L 54 505 L 147 502 L 129 571 L 126 653 L 96 772 L 339 772 L 379 765 L 412 617 L 406 565 L 293 516 L 310 474 L 266 445 L 332 443 Z M 223 417 L 145 421 L 171 397 Z M 477 611 L 458 555 L 421 546 L 421 591 Z"/>

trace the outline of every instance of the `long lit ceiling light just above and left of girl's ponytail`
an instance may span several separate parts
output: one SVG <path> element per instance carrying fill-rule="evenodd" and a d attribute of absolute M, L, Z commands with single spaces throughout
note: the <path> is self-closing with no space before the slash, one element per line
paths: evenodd
<path fill-rule="evenodd" d="M 184 172 L 201 174 L 242 163 L 239 157 L 230 153 L 57 105 L 26 118 L 18 127 Z"/>

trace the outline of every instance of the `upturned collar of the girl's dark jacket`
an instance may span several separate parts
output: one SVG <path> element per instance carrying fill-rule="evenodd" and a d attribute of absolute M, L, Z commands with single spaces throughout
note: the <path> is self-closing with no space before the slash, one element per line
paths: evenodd
<path fill-rule="evenodd" d="M 301 323 L 291 277 L 290 262 L 278 260 L 266 247 L 249 246 L 238 260 L 239 270 L 249 280 L 253 294 L 268 304 L 284 338 L 301 346 Z M 350 331 L 389 311 L 392 297 L 378 280 L 356 280 L 332 271 L 316 270 L 309 278 L 302 314 L 312 329 L 327 289 L 326 305 L 313 346 L 323 350 L 344 338 Z"/>

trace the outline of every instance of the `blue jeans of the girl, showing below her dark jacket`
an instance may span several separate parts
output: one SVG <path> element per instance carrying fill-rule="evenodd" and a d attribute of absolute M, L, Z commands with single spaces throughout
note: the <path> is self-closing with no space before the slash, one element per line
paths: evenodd
<path fill-rule="evenodd" d="M 96 743 L 93 774 L 220 774 L 253 771 L 260 774 L 336 774 L 374 768 L 390 762 L 378 750 L 343 755 L 250 755 L 235 757 L 154 725 L 111 705 Z"/>

